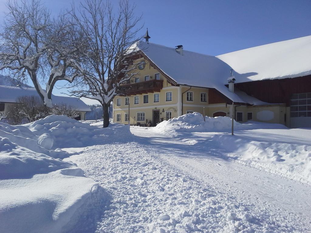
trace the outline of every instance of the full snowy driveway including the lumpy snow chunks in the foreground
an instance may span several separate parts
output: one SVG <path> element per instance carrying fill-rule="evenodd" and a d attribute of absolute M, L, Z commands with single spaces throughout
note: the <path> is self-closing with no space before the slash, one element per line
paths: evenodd
<path fill-rule="evenodd" d="M 70 157 L 111 195 L 95 232 L 309 232 L 311 187 L 195 145 L 209 134 L 131 132 Z"/>

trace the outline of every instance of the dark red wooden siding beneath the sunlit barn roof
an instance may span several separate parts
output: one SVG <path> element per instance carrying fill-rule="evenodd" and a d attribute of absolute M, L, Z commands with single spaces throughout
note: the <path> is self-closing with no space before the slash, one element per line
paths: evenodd
<path fill-rule="evenodd" d="M 289 106 L 292 94 L 311 92 L 311 75 L 297 78 L 236 83 L 235 88 L 264 102 L 286 103 Z"/>

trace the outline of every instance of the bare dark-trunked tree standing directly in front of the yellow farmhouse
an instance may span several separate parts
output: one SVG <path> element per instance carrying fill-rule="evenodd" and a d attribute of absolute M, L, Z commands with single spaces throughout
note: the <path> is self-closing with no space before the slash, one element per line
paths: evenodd
<path fill-rule="evenodd" d="M 121 0 L 115 14 L 109 2 L 85 0 L 77 9 L 72 6 L 70 12 L 87 38 L 86 49 L 80 53 L 82 58 L 74 64 L 81 77 L 76 79 L 71 93 L 100 102 L 103 127 L 109 125 L 109 106 L 121 94 L 120 85 L 138 74 L 133 60 L 141 39 L 137 37 L 141 16 L 136 17 L 134 9 L 127 0 Z"/>

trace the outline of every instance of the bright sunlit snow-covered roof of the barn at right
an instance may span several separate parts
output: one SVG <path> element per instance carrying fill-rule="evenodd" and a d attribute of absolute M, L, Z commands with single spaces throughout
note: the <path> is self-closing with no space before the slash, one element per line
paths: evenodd
<path fill-rule="evenodd" d="M 311 36 L 217 56 L 234 69 L 236 83 L 311 74 Z"/>

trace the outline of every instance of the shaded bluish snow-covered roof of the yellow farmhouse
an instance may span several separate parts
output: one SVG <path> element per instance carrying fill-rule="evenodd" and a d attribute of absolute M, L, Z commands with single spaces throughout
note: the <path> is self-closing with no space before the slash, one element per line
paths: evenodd
<path fill-rule="evenodd" d="M 234 102 L 244 103 L 229 91 L 227 84 L 231 67 L 219 58 L 183 50 L 183 55 L 154 43 L 141 42 L 138 48 L 179 85 L 215 88 Z"/>

